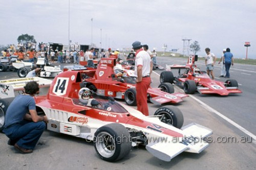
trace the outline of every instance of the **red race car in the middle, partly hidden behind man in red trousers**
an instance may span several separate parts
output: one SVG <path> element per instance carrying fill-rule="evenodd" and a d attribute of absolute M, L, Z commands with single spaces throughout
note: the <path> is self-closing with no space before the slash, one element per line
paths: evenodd
<path fill-rule="evenodd" d="M 94 76 L 84 79 L 84 87 L 88 87 L 97 95 L 111 96 L 116 99 L 124 99 L 127 105 L 136 105 L 136 79 L 126 76 L 119 69 L 114 69 L 116 59 L 102 58 Z M 92 70 L 94 71 L 94 70 Z M 83 76 L 85 77 L 85 76 Z M 158 88 L 149 88 L 148 100 L 154 104 L 179 103 L 187 94 L 174 93 L 174 87 L 170 83 L 162 83 Z"/>

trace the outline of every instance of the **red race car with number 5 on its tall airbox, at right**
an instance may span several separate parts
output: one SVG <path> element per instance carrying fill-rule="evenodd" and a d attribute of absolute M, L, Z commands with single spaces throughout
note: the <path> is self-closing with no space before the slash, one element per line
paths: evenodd
<path fill-rule="evenodd" d="M 225 83 L 210 79 L 205 71 L 200 70 L 196 65 L 197 56 L 189 56 L 185 65 L 166 65 L 166 70 L 161 72 L 160 83 L 175 83 L 183 87 L 185 93 L 193 94 L 198 91 L 201 94 L 228 95 L 229 93 L 241 93 L 238 89 L 238 82 L 233 79 Z M 178 76 L 174 77 L 173 71 L 178 70 Z M 170 71 L 172 70 L 172 71 Z M 181 70 L 183 70 L 181 72 Z"/>

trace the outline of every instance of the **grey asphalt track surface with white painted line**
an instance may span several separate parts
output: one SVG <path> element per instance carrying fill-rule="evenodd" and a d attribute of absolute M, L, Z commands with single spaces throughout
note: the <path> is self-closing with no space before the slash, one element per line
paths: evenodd
<path fill-rule="evenodd" d="M 163 66 L 185 62 L 186 60 L 179 58 L 158 57 L 158 63 Z M 202 61 L 197 65 L 205 69 Z M 156 70 L 152 74 L 152 87 L 159 85 L 160 72 Z M 255 140 L 242 131 L 243 129 L 237 128 L 216 114 L 217 111 L 252 135 L 256 134 L 255 72 L 255 66 L 235 63 L 231 67 L 231 78 L 238 80 L 242 94 L 223 97 L 196 93 L 175 105 L 183 113 L 184 125 L 194 122 L 214 132 L 208 138 L 210 147 L 200 154 L 181 153 L 170 162 L 164 162 L 152 156 L 145 148 L 136 147 L 122 160 L 111 163 L 99 159 L 92 142 L 46 130 L 34 152 L 28 155 L 19 154 L 13 147 L 7 145 L 8 138 L 1 133 L 0 167 L 1 169 L 256 169 Z M 216 77 L 220 75 L 218 65 L 215 67 L 215 74 Z M 17 78 L 16 72 L 0 72 L 0 75 L 1 80 Z M 175 91 L 183 92 L 179 87 L 175 87 Z M 150 114 L 154 114 L 160 106 L 148 103 L 148 107 Z"/>

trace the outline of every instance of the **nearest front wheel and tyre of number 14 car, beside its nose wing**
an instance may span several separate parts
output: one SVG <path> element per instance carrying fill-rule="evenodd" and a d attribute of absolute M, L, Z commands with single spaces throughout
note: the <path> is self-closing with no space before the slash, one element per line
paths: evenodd
<path fill-rule="evenodd" d="M 94 148 L 105 161 L 114 162 L 122 159 L 132 149 L 130 133 L 121 124 L 102 126 L 95 132 Z"/>

